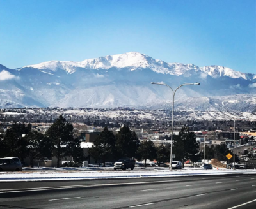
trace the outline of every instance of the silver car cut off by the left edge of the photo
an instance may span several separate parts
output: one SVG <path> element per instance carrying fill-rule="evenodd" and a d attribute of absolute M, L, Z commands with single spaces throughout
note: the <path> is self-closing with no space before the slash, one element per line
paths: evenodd
<path fill-rule="evenodd" d="M 0 171 L 22 171 L 22 165 L 18 157 L 0 158 Z"/>

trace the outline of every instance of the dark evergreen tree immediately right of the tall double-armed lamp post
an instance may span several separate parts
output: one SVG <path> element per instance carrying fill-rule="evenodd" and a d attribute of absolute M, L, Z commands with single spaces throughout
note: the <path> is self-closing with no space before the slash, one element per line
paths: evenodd
<path fill-rule="evenodd" d="M 173 140 L 173 154 L 175 159 L 182 160 L 184 168 L 184 161 L 195 157 L 198 154 L 199 143 L 196 141 L 195 133 L 189 132 L 188 127 L 182 127 L 178 136 Z"/>

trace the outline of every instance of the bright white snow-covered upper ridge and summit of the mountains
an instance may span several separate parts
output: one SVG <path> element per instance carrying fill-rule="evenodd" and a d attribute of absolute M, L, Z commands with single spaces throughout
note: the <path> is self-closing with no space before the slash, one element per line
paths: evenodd
<path fill-rule="evenodd" d="M 129 68 L 130 71 L 136 69 L 151 69 L 156 73 L 169 75 L 184 75 L 188 71 L 205 73 L 212 76 L 212 78 L 219 78 L 221 76 L 228 76 L 230 78 L 243 78 L 245 80 L 253 80 L 256 75 L 249 73 L 241 73 L 223 66 L 204 66 L 198 67 L 194 64 L 181 63 L 166 63 L 159 59 L 153 59 L 145 54 L 139 52 L 127 52 L 125 54 L 108 55 L 98 59 L 86 59 L 82 62 L 74 61 L 49 61 L 40 64 L 25 66 L 24 68 L 34 68 L 39 70 L 47 70 L 56 72 L 57 70 L 64 70 L 69 74 L 76 72 L 76 68 L 85 69 L 106 69 L 109 68 Z M 22 68 L 20 69 L 22 70 Z"/>

